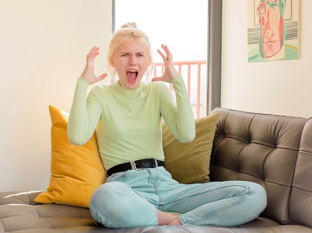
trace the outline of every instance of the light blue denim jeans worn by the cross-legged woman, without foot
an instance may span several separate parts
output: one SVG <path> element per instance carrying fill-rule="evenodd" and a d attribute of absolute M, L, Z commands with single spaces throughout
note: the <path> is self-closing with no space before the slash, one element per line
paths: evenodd
<path fill-rule="evenodd" d="M 248 181 L 179 184 L 164 167 L 108 177 L 90 200 L 93 218 L 109 228 L 157 225 L 157 211 L 177 212 L 182 225 L 237 226 L 266 208 L 264 188 Z"/>

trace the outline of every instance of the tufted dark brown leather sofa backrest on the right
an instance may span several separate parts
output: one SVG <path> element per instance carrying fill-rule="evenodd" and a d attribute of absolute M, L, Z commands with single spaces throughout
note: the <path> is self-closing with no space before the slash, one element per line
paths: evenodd
<path fill-rule="evenodd" d="M 281 224 L 312 227 L 311 120 L 221 108 L 213 113 L 220 116 L 211 154 L 211 181 L 259 183 L 268 195 L 262 216 Z"/>

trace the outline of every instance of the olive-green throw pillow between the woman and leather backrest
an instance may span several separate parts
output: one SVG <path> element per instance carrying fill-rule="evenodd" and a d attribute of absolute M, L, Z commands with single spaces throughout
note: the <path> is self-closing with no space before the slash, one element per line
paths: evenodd
<path fill-rule="evenodd" d="M 190 143 L 179 142 L 162 123 L 165 166 L 179 183 L 209 182 L 210 154 L 219 113 L 195 119 L 196 136 Z"/>

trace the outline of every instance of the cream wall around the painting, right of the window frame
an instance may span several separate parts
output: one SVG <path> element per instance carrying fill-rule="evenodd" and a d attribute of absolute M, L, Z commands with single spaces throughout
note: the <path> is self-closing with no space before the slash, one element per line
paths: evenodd
<path fill-rule="evenodd" d="M 312 116 L 311 9 L 301 0 L 299 60 L 248 63 L 247 0 L 223 0 L 221 107 Z"/>

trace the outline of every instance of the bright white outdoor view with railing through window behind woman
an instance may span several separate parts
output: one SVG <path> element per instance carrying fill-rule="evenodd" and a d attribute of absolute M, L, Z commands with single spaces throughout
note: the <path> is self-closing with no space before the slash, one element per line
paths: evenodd
<path fill-rule="evenodd" d="M 183 76 L 195 118 L 206 116 L 208 1 L 115 0 L 115 30 L 127 22 L 136 22 L 151 40 L 156 66 L 150 79 L 161 75 L 157 49 L 166 44 Z"/>

